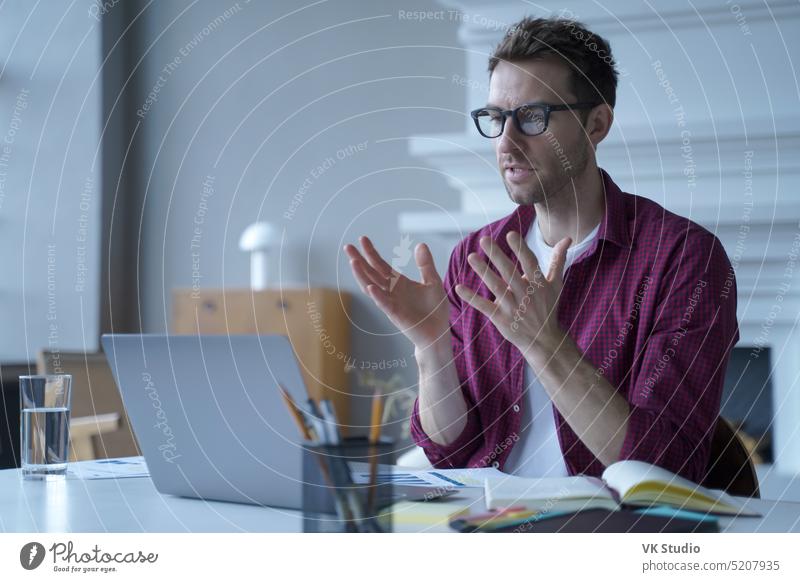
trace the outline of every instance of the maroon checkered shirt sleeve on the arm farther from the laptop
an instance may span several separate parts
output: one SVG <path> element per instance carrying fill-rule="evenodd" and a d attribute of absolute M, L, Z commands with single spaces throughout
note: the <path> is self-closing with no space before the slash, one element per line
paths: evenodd
<path fill-rule="evenodd" d="M 685 242 L 685 244 L 684 244 Z M 719 240 L 690 231 L 658 287 L 655 325 L 628 393 L 621 459 L 702 481 L 728 356 L 739 340 L 736 281 Z"/>

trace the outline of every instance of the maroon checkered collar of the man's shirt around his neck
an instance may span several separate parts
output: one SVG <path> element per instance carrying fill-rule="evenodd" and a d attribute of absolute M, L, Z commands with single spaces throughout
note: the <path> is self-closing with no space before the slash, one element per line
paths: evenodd
<path fill-rule="evenodd" d="M 606 210 L 603 221 L 600 223 L 600 230 L 597 232 L 597 239 L 592 244 L 591 251 L 596 248 L 597 241 L 607 240 L 620 247 L 629 248 L 631 237 L 628 232 L 628 218 L 625 211 L 625 199 L 622 191 L 614 183 L 614 180 L 602 168 L 600 174 L 603 178 L 603 189 L 605 190 Z M 536 218 L 536 209 L 531 205 L 520 205 L 511 213 L 497 236 L 496 240 L 505 243 L 506 235 L 512 230 L 518 231 L 522 237 L 527 236 L 528 231 Z M 501 246 L 504 246 L 501 244 Z"/>

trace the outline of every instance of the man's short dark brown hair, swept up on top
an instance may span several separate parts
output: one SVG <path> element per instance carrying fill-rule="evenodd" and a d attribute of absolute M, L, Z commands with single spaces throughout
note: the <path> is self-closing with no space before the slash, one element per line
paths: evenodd
<path fill-rule="evenodd" d="M 489 59 L 489 76 L 500 61 L 545 57 L 562 59 L 572 71 L 572 91 L 578 101 L 617 100 L 617 70 L 604 38 L 575 20 L 525 17 L 506 31 Z"/>

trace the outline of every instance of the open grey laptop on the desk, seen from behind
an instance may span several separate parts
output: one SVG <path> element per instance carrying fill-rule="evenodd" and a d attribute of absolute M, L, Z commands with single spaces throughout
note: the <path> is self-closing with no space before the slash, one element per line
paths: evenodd
<path fill-rule="evenodd" d="M 287 337 L 107 334 L 102 345 L 159 492 L 301 508 L 301 438 L 278 383 L 307 395 Z"/>

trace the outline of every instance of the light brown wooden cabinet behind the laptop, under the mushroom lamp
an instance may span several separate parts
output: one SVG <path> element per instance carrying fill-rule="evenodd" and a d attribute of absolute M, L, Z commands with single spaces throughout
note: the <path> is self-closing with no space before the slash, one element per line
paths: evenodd
<path fill-rule="evenodd" d="M 177 290 L 172 331 L 288 336 L 309 395 L 330 399 L 346 427 L 350 423 L 346 366 L 352 362 L 349 307 L 349 294 L 326 288 Z"/>

